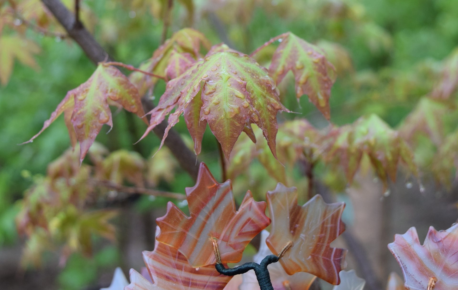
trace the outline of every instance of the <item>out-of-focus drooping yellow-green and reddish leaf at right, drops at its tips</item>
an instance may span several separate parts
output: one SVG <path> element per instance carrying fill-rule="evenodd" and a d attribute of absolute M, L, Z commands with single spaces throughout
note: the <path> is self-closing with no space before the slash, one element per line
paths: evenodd
<path fill-rule="evenodd" d="M 353 124 L 331 129 L 320 143 L 318 154 L 325 162 L 342 166 L 349 183 L 360 166 L 363 154 L 369 156 L 385 187 L 388 177 L 396 180 L 399 161 L 404 162 L 414 176 L 418 175 L 409 145 L 398 131 L 391 129 L 375 114 L 361 117 Z"/>

